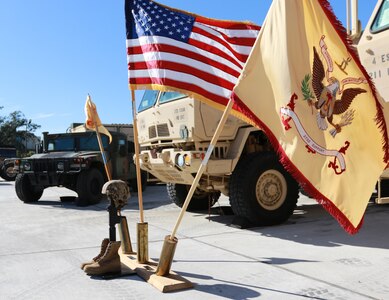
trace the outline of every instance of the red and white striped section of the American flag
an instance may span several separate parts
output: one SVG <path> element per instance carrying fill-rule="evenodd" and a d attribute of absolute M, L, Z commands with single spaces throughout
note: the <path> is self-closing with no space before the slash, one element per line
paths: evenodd
<path fill-rule="evenodd" d="M 225 105 L 259 30 L 197 17 L 187 43 L 157 35 L 129 39 L 129 84 L 164 85 Z"/>

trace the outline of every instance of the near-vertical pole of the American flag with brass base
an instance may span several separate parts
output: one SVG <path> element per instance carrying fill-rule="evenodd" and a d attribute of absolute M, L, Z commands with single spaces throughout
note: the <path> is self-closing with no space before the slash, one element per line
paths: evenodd
<path fill-rule="evenodd" d="M 132 119 L 134 129 L 134 145 L 135 145 L 135 167 L 136 167 L 136 181 L 138 186 L 138 203 L 140 222 L 137 224 L 137 259 L 139 263 L 146 263 L 149 260 L 148 255 L 148 224 L 144 221 L 143 214 L 143 194 L 142 194 L 142 177 L 140 172 L 139 161 L 139 140 L 138 140 L 138 124 L 136 118 L 136 103 L 135 91 L 131 89 L 131 103 L 132 103 Z"/>

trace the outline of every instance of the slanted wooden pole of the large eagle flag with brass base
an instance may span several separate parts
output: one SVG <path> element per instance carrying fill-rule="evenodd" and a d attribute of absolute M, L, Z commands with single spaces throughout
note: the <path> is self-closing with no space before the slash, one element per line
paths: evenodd
<path fill-rule="evenodd" d="M 161 251 L 161 256 L 160 256 L 158 267 L 156 270 L 156 274 L 158 276 L 167 276 L 170 272 L 170 267 L 171 267 L 171 264 L 173 262 L 173 256 L 174 256 L 175 248 L 177 245 L 177 238 L 175 237 L 175 235 L 177 233 L 178 227 L 180 226 L 182 218 L 184 217 L 186 209 L 188 208 L 188 205 L 192 199 L 192 196 L 197 188 L 197 185 L 200 181 L 200 178 L 203 175 L 205 168 L 207 167 L 208 160 L 211 157 L 213 149 L 215 148 L 217 140 L 219 139 L 219 136 L 220 136 L 220 134 L 223 130 L 223 127 L 227 121 L 227 118 L 231 112 L 233 103 L 234 103 L 234 101 L 230 98 L 226 108 L 224 109 L 224 112 L 223 112 L 223 115 L 219 121 L 219 124 L 217 125 L 216 131 L 212 137 L 212 140 L 208 146 L 208 150 L 205 154 L 205 157 L 204 157 L 203 161 L 201 162 L 201 165 L 196 173 L 196 176 L 193 180 L 193 183 L 188 191 L 185 202 L 182 205 L 181 212 L 177 218 L 176 224 L 174 225 L 172 234 L 170 236 L 165 237 L 164 244 L 163 244 L 162 251 Z"/>

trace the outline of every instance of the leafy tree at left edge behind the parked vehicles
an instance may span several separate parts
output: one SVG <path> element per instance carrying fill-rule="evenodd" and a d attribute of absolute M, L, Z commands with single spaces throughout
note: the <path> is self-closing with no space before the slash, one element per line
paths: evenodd
<path fill-rule="evenodd" d="M 1 109 L 3 106 L 0 106 Z M 14 146 L 19 153 L 26 153 L 26 141 L 34 138 L 33 132 L 40 127 L 26 119 L 21 111 L 14 111 L 8 116 L 0 116 L 0 145 Z"/>

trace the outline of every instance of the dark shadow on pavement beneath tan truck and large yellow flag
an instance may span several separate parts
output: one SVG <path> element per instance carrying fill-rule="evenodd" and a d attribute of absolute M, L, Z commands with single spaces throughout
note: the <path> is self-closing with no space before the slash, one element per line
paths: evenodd
<path fill-rule="evenodd" d="M 232 226 L 234 220 L 234 216 L 231 215 L 232 211 L 230 214 L 230 211 L 225 207 L 213 207 L 210 212 L 210 214 L 207 211 L 201 213 L 209 214 L 206 218 L 210 221 Z M 389 249 L 388 227 L 389 205 L 377 205 L 370 202 L 366 209 L 363 225 L 355 235 L 348 234 L 320 204 L 298 206 L 294 214 L 283 224 L 242 230 L 315 246 L 352 245 Z"/>

